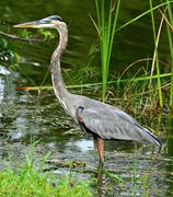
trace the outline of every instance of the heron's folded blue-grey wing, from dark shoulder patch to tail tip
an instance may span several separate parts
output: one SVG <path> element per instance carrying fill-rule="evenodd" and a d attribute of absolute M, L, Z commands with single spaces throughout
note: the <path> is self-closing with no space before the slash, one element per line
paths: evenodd
<path fill-rule="evenodd" d="M 155 136 L 118 108 L 104 104 L 89 108 L 80 106 L 77 117 L 86 129 L 103 139 L 136 140 L 160 146 Z"/>

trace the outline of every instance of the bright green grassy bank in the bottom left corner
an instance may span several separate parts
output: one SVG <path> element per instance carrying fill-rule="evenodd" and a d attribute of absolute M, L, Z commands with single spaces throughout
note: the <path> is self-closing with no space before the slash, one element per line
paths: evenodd
<path fill-rule="evenodd" d="M 19 169 L 5 166 L 0 171 L 0 196 L 90 197 L 92 194 L 86 182 L 76 183 L 67 175 L 56 177 L 50 173 L 43 173 L 41 167 L 35 170 L 34 165 L 27 161 Z"/>

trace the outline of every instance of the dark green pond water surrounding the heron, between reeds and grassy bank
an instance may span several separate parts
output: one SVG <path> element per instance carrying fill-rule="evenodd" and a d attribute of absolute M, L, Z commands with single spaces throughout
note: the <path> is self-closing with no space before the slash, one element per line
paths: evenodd
<path fill-rule="evenodd" d="M 132 7 L 131 7 L 132 4 Z M 123 2 L 119 25 L 148 9 L 147 2 Z M 82 84 L 101 81 L 97 37 L 89 13 L 94 16 L 94 1 L 30 1 L 11 0 L 1 2 L 1 31 L 16 34 L 13 24 L 59 14 L 69 26 L 69 45 L 61 67 L 67 84 Z M 55 32 L 56 33 L 56 32 Z M 34 33 L 32 33 L 34 35 Z M 36 31 L 35 31 L 36 34 Z M 131 24 L 115 35 L 111 77 L 137 59 L 152 55 L 152 30 L 150 16 Z M 164 36 L 164 34 L 163 34 Z M 81 134 L 73 121 L 65 115 L 53 91 L 22 92 L 18 86 L 50 84 L 48 65 L 58 37 L 53 40 L 26 43 L 8 39 L 13 51 L 21 56 L 20 65 L 13 71 L 2 61 L 0 66 L 0 158 L 11 155 L 13 163 L 20 163 L 31 141 L 36 144 L 36 160 L 48 151 L 50 160 L 84 161 L 86 167 L 72 176 L 89 179 L 97 165 L 92 138 Z M 93 45 L 94 44 L 94 45 Z M 161 45 L 166 54 L 166 43 Z M 90 58 L 93 60 L 90 62 Z M 163 56 L 166 59 L 166 56 Z M 146 65 L 146 63 L 143 63 Z M 143 66 L 142 65 L 142 66 Z M 137 68 L 141 65 L 137 65 Z M 85 70 L 89 70 L 85 72 Z M 46 77 L 48 72 L 48 76 Z M 93 73 L 93 74 L 91 74 Z M 85 78 L 83 78 L 83 76 Z M 96 77 L 95 77 L 96 76 Z M 45 80 L 44 80 L 45 79 Z M 100 90 L 71 90 L 92 97 L 100 97 Z M 92 92 L 92 93 L 91 93 Z M 139 121 L 145 123 L 142 119 Z M 157 154 L 151 146 L 132 142 L 105 142 L 105 169 L 101 188 L 105 196 L 172 196 L 173 187 L 173 117 L 165 113 L 149 123 L 163 139 L 163 151 Z M 47 165 L 47 169 L 50 166 Z M 90 171 L 91 173 L 86 173 Z M 59 167 L 57 174 L 69 173 L 68 167 Z M 118 176 L 123 183 L 118 183 Z"/>

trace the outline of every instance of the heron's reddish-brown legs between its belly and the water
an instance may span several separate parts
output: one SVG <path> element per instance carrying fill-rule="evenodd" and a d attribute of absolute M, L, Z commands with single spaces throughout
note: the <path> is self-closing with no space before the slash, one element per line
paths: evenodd
<path fill-rule="evenodd" d="M 104 142 L 103 142 L 103 139 L 101 139 L 100 137 L 94 137 L 94 148 L 97 149 L 99 155 L 100 155 L 100 164 L 103 165 L 104 164 L 104 155 L 103 155 Z"/>

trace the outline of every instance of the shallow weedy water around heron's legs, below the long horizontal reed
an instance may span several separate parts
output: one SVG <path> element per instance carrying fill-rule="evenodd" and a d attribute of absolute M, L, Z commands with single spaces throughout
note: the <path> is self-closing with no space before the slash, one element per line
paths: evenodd
<path fill-rule="evenodd" d="M 45 166 L 46 171 L 53 171 L 58 177 L 69 174 L 70 171 L 72 171 L 71 176 L 77 179 L 95 177 L 99 158 L 92 138 L 82 134 L 62 112 L 54 93 L 50 91 L 38 95 L 15 92 L 16 85 L 8 77 L 11 88 L 8 90 L 4 85 L 1 89 L 1 97 L 3 97 L 0 128 L 1 164 L 4 160 L 10 160 L 14 165 L 22 163 L 25 153 L 30 152 L 31 143 L 38 140 L 34 152 L 36 163 L 48 152 L 51 153 L 48 158 L 49 163 Z M 165 118 L 162 121 L 164 123 Z M 164 128 L 172 135 L 172 125 L 169 124 L 164 127 L 160 126 L 159 134 Z M 100 183 L 99 193 L 102 192 L 103 196 L 141 196 L 143 193 L 149 196 L 171 196 L 173 181 L 171 136 L 163 144 L 162 152 L 158 154 L 157 151 L 149 144 L 106 141 L 106 172 L 103 174 L 102 184 Z M 72 170 L 56 167 L 58 162 L 70 161 L 85 162 L 86 166 L 77 166 Z M 123 183 L 119 183 L 117 177 Z"/>

